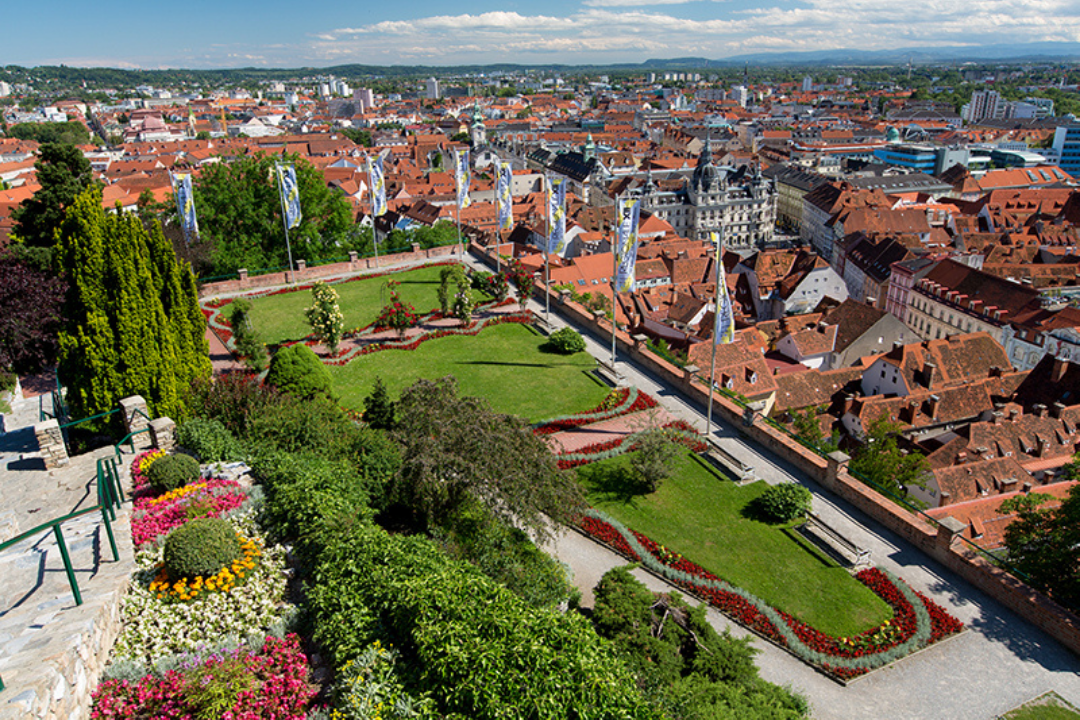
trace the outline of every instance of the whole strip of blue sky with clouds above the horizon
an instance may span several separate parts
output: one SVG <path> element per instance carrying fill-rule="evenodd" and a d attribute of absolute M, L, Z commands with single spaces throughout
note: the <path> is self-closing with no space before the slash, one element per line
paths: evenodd
<path fill-rule="evenodd" d="M 15 0 L 0 65 L 605 64 L 1080 41 L 1080 0 Z"/>

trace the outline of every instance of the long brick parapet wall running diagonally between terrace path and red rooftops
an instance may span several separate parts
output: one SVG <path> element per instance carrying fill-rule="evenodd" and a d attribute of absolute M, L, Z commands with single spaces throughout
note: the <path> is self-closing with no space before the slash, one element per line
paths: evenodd
<path fill-rule="evenodd" d="M 470 250 L 485 263 L 495 267 L 495 261 L 486 248 L 471 244 Z M 543 283 L 538 281 L 534 290 L 537 300 L 543 302 L 546 291 Z M 550 303 L 555 312 L 579 329 L 591 332 L 605 345 L 611 341 L 611 323 L 606 318 L 594 317 L 579 303 L 564 300 L 557 291 L 551 291 Z M 635 341 L 621 330 L 616 332 L 616 343 L 619 351 L 629 354 L 635 365 L 653 373 L 664 384 L 678 389 L 700 409 L 704 410 L 707 407 L 706 386 L 696 382 L 686 370 L 650 352 L 644 342 Z M 916 517 L 849 475 L 846 464 L 826 461 L 786 433 L 759 420 L 746 425 L 742 408 L 724 395 L 713 394 L 713 413 L 738 429 L 741 434 L 787 460 L 826 490 L 850 502 L 1007 608 L 1057 638 L 1072 652 L 1080 654 L 1080 617 L 991 565 L 958 540 L 947 528 L 933 526 Z"/>

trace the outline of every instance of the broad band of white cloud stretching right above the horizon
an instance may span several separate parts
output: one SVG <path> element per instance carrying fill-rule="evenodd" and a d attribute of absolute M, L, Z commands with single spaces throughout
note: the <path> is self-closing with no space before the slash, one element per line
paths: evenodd
<path fill-rule="evenodd" d="M 766 0 L 771 4 L 751 8 L 738 0 L 581 2 L 562 17 L 513 11 L 432 15 L 321 31 L 288 47 L 243 51 L 280 65 L 453 65 L 640 62 L 688 54 L 719 59 L 829 47 L 1080 41 L 1080 0 L 982 0 L 977 8 L 956 0 Z M 683 16 L 679 6 L 690 3 L 693 16 Z M 710 11 L 705 17 L 702 8 Z M 212 54 L 230 62 L 225 53 Z"/>

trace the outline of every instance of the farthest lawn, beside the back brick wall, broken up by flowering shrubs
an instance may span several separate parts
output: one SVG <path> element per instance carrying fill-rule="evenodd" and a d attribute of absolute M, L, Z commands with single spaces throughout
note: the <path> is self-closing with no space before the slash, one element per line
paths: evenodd
<path fill-rule="evenodd" d="M 340 296 L 338 304 L 345 315 L 346 328 L 354 329 L 375 322 L 379 311 L 390 299 L 386 284 L 391 277 L 401 283 L 397 291 L 403 300 L 413 303 L 418 313 L 436 310 L 438 276 L 444 267 L 419 268 L 334 285 Z M 262 342 L 267 344 L 299 340 L 311 334 L 311 326 L 303 316 L 303 311 L 310 305 L 310 289 L 258 298 L 252 301 L 252 322 Z"/>

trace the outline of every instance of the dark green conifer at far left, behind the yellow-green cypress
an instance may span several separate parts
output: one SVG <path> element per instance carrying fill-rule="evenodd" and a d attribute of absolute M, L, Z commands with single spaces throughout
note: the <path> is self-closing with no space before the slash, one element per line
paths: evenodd
<path fill-rule="evenodd" d="M 15 235 L 38 247 L 54 244 L 54 233 L 64 221 L 64 210 L 86 188 L 96 185 L 90 161 L 71 145 L 46 142 L 38 148 L 41 188 L 12 213 Z"/>

